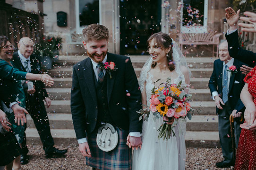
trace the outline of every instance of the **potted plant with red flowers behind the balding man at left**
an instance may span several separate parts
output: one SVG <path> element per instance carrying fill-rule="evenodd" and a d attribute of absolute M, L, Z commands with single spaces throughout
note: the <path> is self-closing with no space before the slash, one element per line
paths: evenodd
<path fill-rule="evenodd" d="M 56 61 L 59 58 L 59 49 L 61 49 L 61 37 L 47 36 L 43 37 L 35 46 L 35 54 L 42 57 L 43 69 L 50 70 L 52 67 L 52 61 Z"/>

